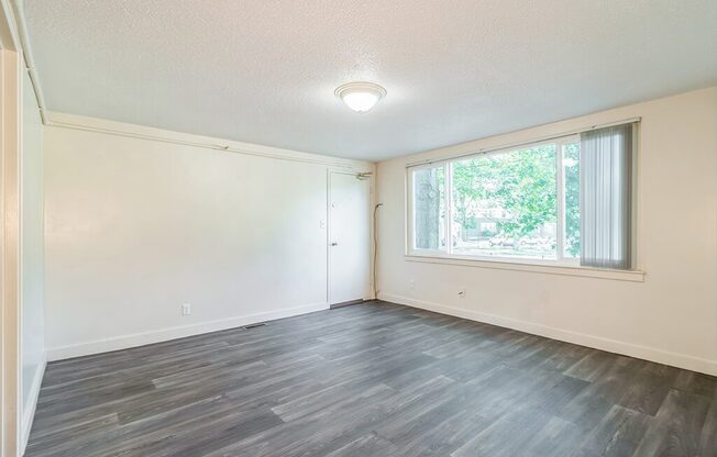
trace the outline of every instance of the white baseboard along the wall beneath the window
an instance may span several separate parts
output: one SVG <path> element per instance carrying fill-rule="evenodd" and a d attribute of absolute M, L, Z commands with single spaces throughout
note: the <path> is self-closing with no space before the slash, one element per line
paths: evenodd
<path fill-rule="evenodd" d="M 505 317 L 479 311 L 465 310 L 461 308 L 448 306 L 444 304 L 417 300 L 408 297 L 396 296 L 393 293 L 379 293 L 380 300 L 405 304 L 412 308 L 433 311 L 441 314 L 453 315 L 456 317 L 467 319 L 470 321 L 484 322 L 486 324 L 498 325 L 530 333 L 533 335 L 545 336 L 548 338 L 560 339 L 567 343 L 578 344 L 595 349 L 607 350 L 610 353 L 622 354 L 630 357 L 641 358 L 644 360 L 657 361 L 659 364 L 671 365 L 679 368 L 685 368 L 693 371 L 699 371 L 707 375 L 717 376 L 717 360 L 694 357 L 686 354 L 671 353 L 668 350 L 657 349 L 653 347 L 641 346 L 632 343 L 620 342 L 605 338 L 602 336 L 586 335 L 584 333 L 573 332 L 564 328 L 551 327 L 548 325 L 536 324 L 532 322 L 520 321 L 512 317 Z"/>

